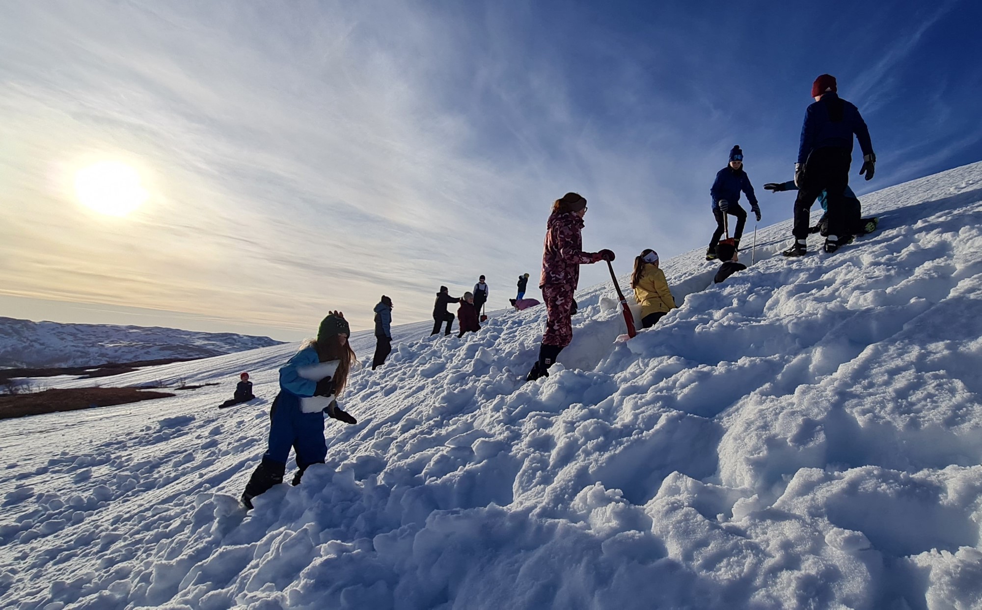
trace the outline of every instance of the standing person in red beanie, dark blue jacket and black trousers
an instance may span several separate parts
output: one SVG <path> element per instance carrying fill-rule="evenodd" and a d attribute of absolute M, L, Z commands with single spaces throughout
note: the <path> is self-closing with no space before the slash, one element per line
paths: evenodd
<path fill-rule="evenodd" d="M 824 190 L 828 205 L 828 236 L 825 251 L 835 252 L 859 223 L 859 210 L 846 205 L 849 165 L 852 163 L 852 135 L 859 140 L 863 164 L 859 175 L 873 178 L 876 155 L 869 139 L 869 129 L 859 110 L 839 97 L 835 76 L 822 75 L 811 86 L 815 103 L 808 106 L 801 127 L 798 159 L 794 164 L 794 183 L 798 187 L 794 200 L 794 243 L 785 256 L 805 253 L 808 215 L 815 198 Z M 855 218 L 853 218 L 855 217 Z"/>

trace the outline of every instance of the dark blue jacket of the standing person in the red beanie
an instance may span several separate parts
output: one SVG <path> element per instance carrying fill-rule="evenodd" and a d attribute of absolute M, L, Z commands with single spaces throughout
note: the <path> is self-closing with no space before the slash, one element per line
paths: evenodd
<path fill-rule="evenodd" d="M 863 155 L 873 153 L 869 129 L 859 115 L 859 110 L 836 93 L 826 93 L 822 99 L 808 106 L 801 126 L 801 144 L 798 146 L 798 163 L 808 161 L 808 155 L 816 148 L 837 146 L 852 152 L 852 134 L 859 140 Z"/>

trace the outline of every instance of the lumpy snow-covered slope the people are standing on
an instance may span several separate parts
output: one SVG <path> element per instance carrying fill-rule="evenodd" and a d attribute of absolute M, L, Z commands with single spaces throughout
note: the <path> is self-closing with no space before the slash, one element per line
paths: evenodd
<path fill-rule="evenodd" d="M 863 203 L 881 230 L 835 255 L 780 257 L 784 223 L 719 286 L 667 261 L 682 306 L 627 342 L 611 287 L 580 291 L 546 380 L 519 381 L 542 308 L 414 325 L 355 374 L 328 463 L 247 516 L 296 344 L 4 422 L 0 605 L 982 607 L 982 163 Z M 263 401 L 216 410 L 242 370 Z"/>

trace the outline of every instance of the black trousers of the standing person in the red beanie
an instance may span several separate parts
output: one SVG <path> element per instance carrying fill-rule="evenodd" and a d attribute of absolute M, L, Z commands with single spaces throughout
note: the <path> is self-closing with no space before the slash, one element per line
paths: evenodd
<path fill-rule="evenodd" d="M 826 146 L 817 148 L 808 156 L 804 164 L 804 176 L 798 184 L 797 198 L 794 200 L 794 229 L 796 239 L 808 237 L 809 215 L 815 199 L 826 192 L 827 234 L 837 238 L 852 234 L 859 226 L 859 206 L 846 201 L 846 186 L 849 185 L 849 166 L 852 154 L 847 148 Z"/>

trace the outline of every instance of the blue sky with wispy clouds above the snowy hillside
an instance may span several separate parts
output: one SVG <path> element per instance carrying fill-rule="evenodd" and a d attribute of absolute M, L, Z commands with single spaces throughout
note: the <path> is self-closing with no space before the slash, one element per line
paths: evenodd
<path fill-rule="evenodd" d="M 293 340 L 333 309 L 369 328 L 382 294 L 396 324 L 427 319 L 481 274 L 502 308 L 567 191 L 584 249 L 626 274 L 645 247 L 705 247 L 734 144 L 761 226 L 791 218 L 762 185 L 791 179 L 823 73 L 870 129 L 860 197 L 982 159 L 980 20 L 971 1 L 4 2 L 0 316 Z M 76 193 L 105 161 L 147 192 L 125 217 Z"/>

